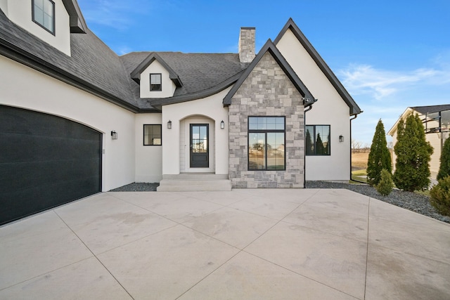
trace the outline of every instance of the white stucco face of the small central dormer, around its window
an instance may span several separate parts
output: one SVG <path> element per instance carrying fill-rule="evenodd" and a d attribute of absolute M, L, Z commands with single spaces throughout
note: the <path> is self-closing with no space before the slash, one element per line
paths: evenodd
<path fill-rule="evenodd" d="M 150 73 L 161 73 L 162 91 L 150 91 Z M 140 77 L 141 98 L 167 98 L 174 96 L 176 86 L 169 77 L 169 72 L 158 60 L 153 60 Z"/>

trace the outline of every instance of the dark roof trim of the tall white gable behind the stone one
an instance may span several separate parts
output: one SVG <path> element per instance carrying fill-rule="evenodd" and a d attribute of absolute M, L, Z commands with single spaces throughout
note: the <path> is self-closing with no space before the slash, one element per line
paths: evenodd
<path fill-rule="evenodd" d="M 352 96 L 350 96 L 349 92 L 345 89 L 345 87 L 342 85 L 342 83 L 339 81 L 338 77 L 333 73 L 333 71 L 328 67 L 328 65 L 325 63 L 325 60 L 321 58 L 319 53 L 316 51 L 316 49 L 312 46 L 312 44 L 308 41 L 307 37 L 304 36 L 302 31 L 299 27 L 295 24 L 292 18 L 289 18 L 288 22 L 284 25 L 281 32 L 276 37 L 274 44 L 278 44 L 278 41 L 281 40 L 285 32 L 290 30 L 293 32 L 295 37 L 300 41 L 300 44 L 306 49 L 307 53 L 309 53 L 309 56 L 314 60 L 316 65 L 319 67 L 319 69 L 325 74 L 327 79 L 330 81 L 330 83 L 334 86 L 336 91 L 338 91 L 339 95 L 342 97 L 342 99 L 345 101 L 345 103 L 350 108 L 350 115 L 358 115 L 362 112 L 361 108 L 356 104 Z"/>

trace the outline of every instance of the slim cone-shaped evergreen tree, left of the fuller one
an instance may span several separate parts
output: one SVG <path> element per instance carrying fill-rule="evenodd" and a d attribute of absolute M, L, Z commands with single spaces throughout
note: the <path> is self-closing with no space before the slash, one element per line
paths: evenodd
<path fill-rule="evenodd" d="M 367 182 L 370 185 L 378 185 L 383 169 L 386 169 L 390 174 L 392 173 L 392 159 L 387 148 L 385 126 L 380 119 L 373 135 L 371 152 L 368 154 Z"/>

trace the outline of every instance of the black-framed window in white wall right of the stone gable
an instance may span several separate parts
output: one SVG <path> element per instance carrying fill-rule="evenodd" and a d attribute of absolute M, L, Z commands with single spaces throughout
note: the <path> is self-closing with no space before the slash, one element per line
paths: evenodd
<path fill-rule="evenodd" d="M 330 125 L 305 126 L 306 155 L 330 155 Z"/>

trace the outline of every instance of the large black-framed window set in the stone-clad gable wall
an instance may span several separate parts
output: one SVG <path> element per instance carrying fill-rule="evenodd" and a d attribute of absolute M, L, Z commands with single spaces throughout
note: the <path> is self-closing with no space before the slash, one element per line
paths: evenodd
<path fill-rule="evenodd" d="M 248 117 L 248 169 L 285 170 L 285 117 Z"/>

